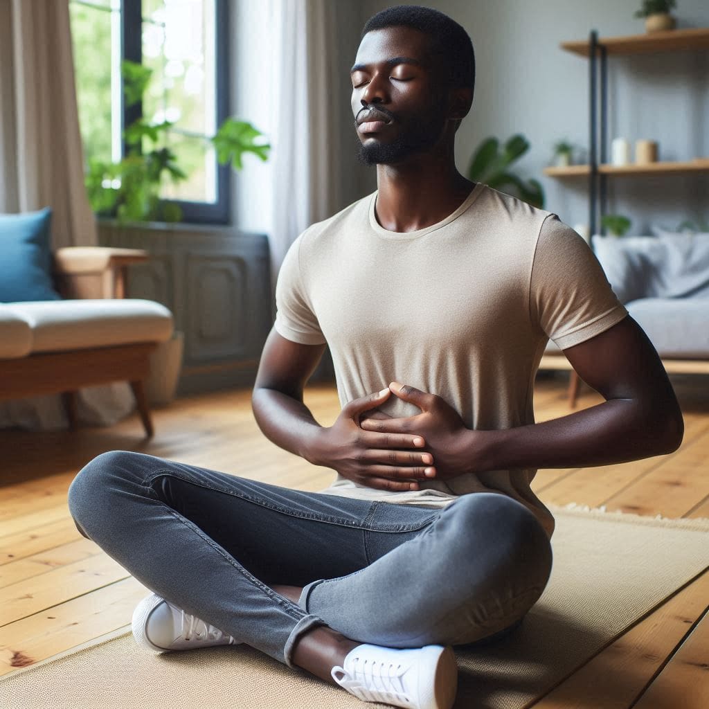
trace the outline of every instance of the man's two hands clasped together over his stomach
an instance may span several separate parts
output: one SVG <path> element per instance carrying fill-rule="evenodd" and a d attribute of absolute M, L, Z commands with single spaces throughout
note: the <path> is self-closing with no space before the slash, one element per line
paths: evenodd
<path fill-rule="evenodd" d="M 367 416 L 390 396 L 413 403 L 421 413 L 406 418 L 381 412 Z M 321 430 L 313 462 L 374 489 L 418 490 L 421 480 L 471 471 L 469 445 L 475 434 L 440 396 L 393 381 L 387 389 L 342 408 L 335 423 Z"/>

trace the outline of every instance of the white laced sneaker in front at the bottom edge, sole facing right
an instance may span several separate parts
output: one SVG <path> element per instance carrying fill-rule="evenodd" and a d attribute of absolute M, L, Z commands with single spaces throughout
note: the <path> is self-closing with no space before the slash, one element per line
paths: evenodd
<path fill-rule="evenodd" d="M 427 645 L 398 650 L 358 645 L 333 667 L 333 679 L 365 702 L 407 709 L 450 709 L 458 684 L 458 666 L 450 647 Z"/>

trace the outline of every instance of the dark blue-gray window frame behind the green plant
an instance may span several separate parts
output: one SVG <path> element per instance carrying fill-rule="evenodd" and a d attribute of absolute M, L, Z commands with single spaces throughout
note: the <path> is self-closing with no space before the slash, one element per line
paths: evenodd
<path fill-rule="evenodd" d="M 143 61 L 143 11 L 142 0 L 122 0 L 121 4 L 121 57 L 132 62 Z M 216 124 L 221 125 L 229 116 L 229 11 L 227 0 L 215 0 L 216 9 Z M 121 134 L 126 125 L 143 116 L 143 106 L 125 106 L 121 92 Z M 123 155 L 128 152 L 123 143 Z M 231 206 L 231 167 L 216 162 L 217 199 L 214 203 L 168 200 L 182 208 L 180 223 L 228 224 Z"/>

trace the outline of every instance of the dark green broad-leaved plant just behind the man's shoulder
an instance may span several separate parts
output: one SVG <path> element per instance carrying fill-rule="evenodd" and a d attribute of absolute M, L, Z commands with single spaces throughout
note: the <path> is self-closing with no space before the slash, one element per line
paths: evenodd
<path fill-rule="evenodd" d="M 520 134 L 513 135 L 503 147 L 497 138 L 486 138 L 470 161 L 468 178 L 473 182 L 519 197 L 534 207 L 544 207 L 544 190 L 535 179 L 525 182 L 509 171 L 510 164 L 529 150 L 530 144 Z"/>

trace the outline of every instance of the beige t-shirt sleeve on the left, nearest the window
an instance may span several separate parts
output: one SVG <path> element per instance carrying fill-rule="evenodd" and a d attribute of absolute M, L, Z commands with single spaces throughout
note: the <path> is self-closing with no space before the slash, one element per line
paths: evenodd
<path fill-rule="evenodd" d="M 301 271 L 300 250 L 303 235 L 291 245 L 276 284 L 276 331 L 291 342 L 322 345 L 325 337 L 313 312 Z"/>

